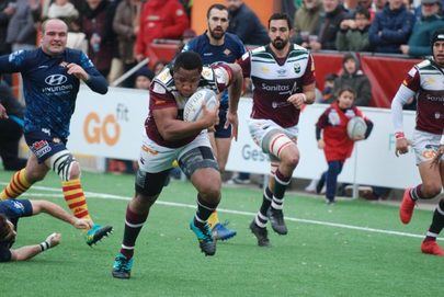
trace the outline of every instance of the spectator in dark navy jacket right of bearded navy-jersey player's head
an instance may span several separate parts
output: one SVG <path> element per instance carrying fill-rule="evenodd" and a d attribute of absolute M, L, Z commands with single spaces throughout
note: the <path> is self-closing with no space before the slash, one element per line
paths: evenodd
<path fill-rule="evenodd" d="M 258 15 L 242 0 L 226 0 L 230 24 L 228 32 L 238 35 L 246 45 L 265 45 L 269 34 Z"/>

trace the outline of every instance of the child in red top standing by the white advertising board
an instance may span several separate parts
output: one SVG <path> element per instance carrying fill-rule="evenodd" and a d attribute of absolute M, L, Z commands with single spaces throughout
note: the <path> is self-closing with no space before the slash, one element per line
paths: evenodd
<path fill-rule="evenodd" d="M 316 124 L 318 148 L 323 150 L 328 162 L 328 170 L 322 173 L 317 190 L 319 193 L 323 184 L 327 183 L 326 198 L 328 204 L 334 203 L 338 175 L 341 173 L 345 160 L 352 155 L 354 141 L 366 139 L 373 128 L 373 123 L 353 105 L 355 98 L 356 93 L 353 89 L 349 87 L 341 89 L 338 100 L 321 114 Z M 365 119 L 367 130 L 364 137 L 350 139 L 346 126 L 349 121 L 355 116 Z"/>

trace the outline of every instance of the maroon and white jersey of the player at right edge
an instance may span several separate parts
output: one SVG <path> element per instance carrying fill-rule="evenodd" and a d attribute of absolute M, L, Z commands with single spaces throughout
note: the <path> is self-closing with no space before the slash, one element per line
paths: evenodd
<path fill-rule="evenodd" d="M 430 60 L 423 60 L 410 69 L 402 83 L 415 92 L 415 128 L 428 133 L 443 134 L 444 69 Z"/>

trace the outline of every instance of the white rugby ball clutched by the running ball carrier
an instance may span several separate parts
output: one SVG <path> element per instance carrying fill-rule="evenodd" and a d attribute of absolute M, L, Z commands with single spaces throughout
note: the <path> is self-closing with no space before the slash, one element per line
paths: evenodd
<path fill-rule="evenodd" d="M 195 122 L 202 117 L 202 105 L 213 111 L 217 106 L 216 93 L 209 89 L 201 89 L 189 98 L 183 107 L 183 121 Z"/>

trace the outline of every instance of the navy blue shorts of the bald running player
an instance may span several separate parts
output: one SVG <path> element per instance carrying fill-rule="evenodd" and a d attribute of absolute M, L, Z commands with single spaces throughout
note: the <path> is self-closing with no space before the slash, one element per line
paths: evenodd
<path fill-rule="evenodd" d="M 24 137 L 31 151 L 37 157 L 38 163 L 43 163 L 49 157 L 66 149 L 67 139 L 44 132 L 25 133 Z"/>

